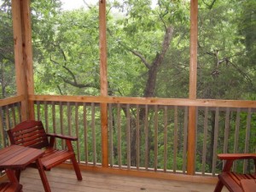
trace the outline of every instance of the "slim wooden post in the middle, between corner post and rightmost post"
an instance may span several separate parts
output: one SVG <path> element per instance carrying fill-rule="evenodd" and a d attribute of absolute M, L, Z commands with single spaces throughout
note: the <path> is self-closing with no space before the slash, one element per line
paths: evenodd
<path fill-rule="evenodd" d="M 108 96 L 106 0 L 99 0 L 101 96 Z M 102 166 L 108 167 L 108 104 L 101 103 Z"/>

